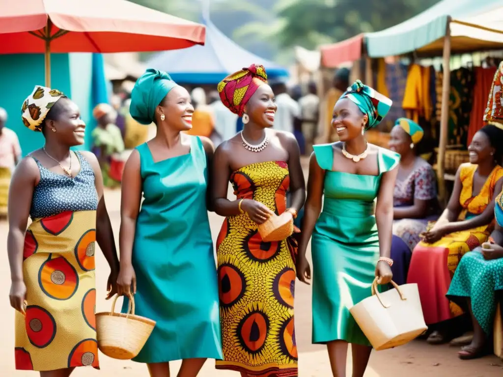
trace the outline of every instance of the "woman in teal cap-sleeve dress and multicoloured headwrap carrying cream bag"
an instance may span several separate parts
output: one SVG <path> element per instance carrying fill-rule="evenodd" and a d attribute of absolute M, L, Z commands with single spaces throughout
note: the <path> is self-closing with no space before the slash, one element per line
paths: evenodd
<path fill-rule="evenodd" d="M 391 100 L 357 80 L 333 108 L 332 127 L 341 141 L 315 145 L 309 161 L 297 276 L 303 282 L 311 277 L 306 250 L 312 234 L 312 341 L 327 345 L 334 376 L 346 375 L 348 343 L 353 377 L 365 373 L 372 347 L 349 309 L 371 296 L 375 276 L 379 284 L 392 277 L 393 188 L 400 156 L 365 140 L 365 131 L 390 107 Z"/>

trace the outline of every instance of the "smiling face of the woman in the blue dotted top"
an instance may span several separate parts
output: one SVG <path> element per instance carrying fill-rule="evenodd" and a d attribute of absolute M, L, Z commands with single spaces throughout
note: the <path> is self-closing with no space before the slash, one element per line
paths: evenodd
<path fill-rule="evenodd" d="M 68 98 L 60 98 L 46 115 L 44 134 L 46 137 L 57 137 L 68 146 L 83 144 L 86 123 L 80 118 L 78 106 Z"/>

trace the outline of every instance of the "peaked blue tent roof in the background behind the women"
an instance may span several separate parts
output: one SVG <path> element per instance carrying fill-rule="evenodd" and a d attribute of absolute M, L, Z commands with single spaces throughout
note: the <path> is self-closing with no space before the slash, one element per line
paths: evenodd
<path fill-rule="evenodd" d="M 178 83 L 217 84 L 228 74 L 251 64 L 262 64 L 270 78 L 288 77 L 288 70 L 254 55 L 227 38 L 211 22 L 206 24 L 204 46 L 155 54 L 146 65 L 168 72 Z"/>

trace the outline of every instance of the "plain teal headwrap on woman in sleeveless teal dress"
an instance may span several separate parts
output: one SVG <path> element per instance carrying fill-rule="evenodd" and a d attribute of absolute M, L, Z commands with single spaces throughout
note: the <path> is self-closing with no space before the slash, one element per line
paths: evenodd
<path fill-rule="evenodd" d="M 136 80 L 131 91 L 131 105 L 129 113 L 135 121 L 141 124 L 150 124 L 154 121 L 155 108 L 177 86 L 169 74 L 148 68 Z"/>

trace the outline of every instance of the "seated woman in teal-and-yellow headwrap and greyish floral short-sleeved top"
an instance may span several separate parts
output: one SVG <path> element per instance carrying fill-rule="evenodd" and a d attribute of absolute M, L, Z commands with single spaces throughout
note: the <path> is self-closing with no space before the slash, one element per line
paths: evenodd
<path fill-rule="evenodd" d="M 424 131 L 406 118 L 396 120 L 389 149 L 400 154 L 393 194 L 393 280 L 405 284 L 412 250 L 426 231 L 428 221 L 438 219 L 437 185 L 432 165 L 418 156 Z"/>

